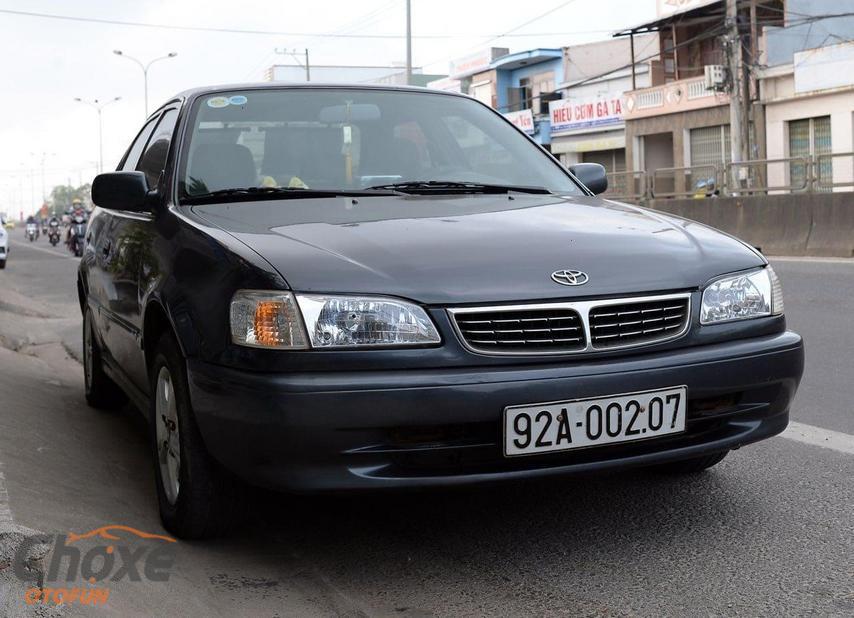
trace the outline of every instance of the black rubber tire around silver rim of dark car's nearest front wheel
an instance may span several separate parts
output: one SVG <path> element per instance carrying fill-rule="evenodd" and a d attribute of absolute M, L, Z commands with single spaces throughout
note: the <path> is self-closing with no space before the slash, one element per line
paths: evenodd
<path fill-rule="evenodd" d="M 168 452 L 161 453 L 158 444 L 157 423 L 165 423 L 165 415 L 158 417 L 159 378 L 166 370 L 171 384 L 174 414 L 177 417 L 179 457 L 178 485 L 167 495 L 164 483 L 164 462 Z M 154 476 L 157 501 L 163 527 L 182 539 L 205 539 L 222 536 L 242 515 L 243 487 L 207 452 L 190 403 L 187 372 L 181 350 L 171 334 L 158 342 L 154 359 L 149 367 L 151 385 L 150 432 L 154 457 Z M 162 404 L 161 404 L 162 405 Z M 161 426 L 161 431 L 168 431 Z M 168 444 L 169 438 L 163 444 Z M 174 443 L 173 443 L 174 444 Z M 168 449 L 166 449 L 168 451 Z M 167 476 L 169 471 L 166 472 Z M 168 483 L 167 479 L 167 483 Z"/>

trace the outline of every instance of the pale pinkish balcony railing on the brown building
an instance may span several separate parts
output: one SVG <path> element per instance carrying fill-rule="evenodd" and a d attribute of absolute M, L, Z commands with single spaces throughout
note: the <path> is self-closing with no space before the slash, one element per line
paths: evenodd
<path fill-rule="evenodd" d="M 687 112 L 692 109 L 729 103 L 729 95 L 706 90 L 706 81 L 703 77 L 681 79 L 661 86 L 632 90 L 627 92 L 625 97 L 626 119 Z"/>

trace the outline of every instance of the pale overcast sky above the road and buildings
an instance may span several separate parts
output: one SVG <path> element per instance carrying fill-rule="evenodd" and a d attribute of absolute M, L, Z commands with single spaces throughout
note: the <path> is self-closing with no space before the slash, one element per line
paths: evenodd
<path fill-rule="evenodd" d="M 486 47 L 522 51 L 586 43 L 655 17 L 655 0 L 411 3 L 413 65 L 427 73 L 447 73 L 453 58 Z M 181 90 L 260 81 L 272 64 L 293 63 L 277 49 L 307 47 L 312 64 L 402 62 L 405 5 L 405 0 L 0 0 L 0 212 L 32 212 L 41 204 L 43 186 L 49 194 L 56 184 L 90 182 L 97 173 L 98 114 L 75 102 L 77 97 L 121 97 L 102 112 L 104 169 L 115 168 L 145 111 L 142 70 L 113 50 L 142 61 L 177 53 L 149 70 L 153 110 Z"/>

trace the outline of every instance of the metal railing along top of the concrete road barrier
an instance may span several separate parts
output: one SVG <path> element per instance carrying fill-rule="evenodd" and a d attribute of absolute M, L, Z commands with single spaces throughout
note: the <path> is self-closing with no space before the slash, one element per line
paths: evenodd
<path fill-rule="evenodd" d="M 608 173 L 615 200 L 854 191 L 854 152 Z"/>

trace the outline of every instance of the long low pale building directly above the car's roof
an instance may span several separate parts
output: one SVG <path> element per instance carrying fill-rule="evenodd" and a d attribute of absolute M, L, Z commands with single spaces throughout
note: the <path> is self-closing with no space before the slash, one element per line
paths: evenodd
<path fill-rule="evenodd" d="M 406 84 L 406 70 L 400 63 L 390 66 L 334 66 L 311 65 L 311 81 L 320 83 L 357 83 L 357 84 Z M 420 67 L 412 69 L 412 85 L 426 86 L 428 82 L 445 77 L 422 72 Z M 271 82 L 305 82 L 306 70 L 302 64 L 274 64 L 264 74 Z"/>

